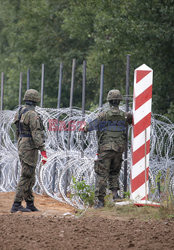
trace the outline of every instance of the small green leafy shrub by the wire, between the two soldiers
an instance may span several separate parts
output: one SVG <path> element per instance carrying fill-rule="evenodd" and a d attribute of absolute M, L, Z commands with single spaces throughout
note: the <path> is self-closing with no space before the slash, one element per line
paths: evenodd
<path fill-rule="evenodd" d="M 94 185 L 90 186 L 84 180 L 77 181 L 72 177 L 74 194 L 72 196 L 79 196 L 85 205 L 92 206 L 94 204 Z"/>

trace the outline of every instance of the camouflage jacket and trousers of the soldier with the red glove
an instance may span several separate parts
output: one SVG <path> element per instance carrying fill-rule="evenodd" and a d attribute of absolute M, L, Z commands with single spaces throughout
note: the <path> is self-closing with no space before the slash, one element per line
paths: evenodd
<path fill-rule="evenodd" d="M 44 126 L 35 106 L 25 105 L 15 115 L 17 127 L 18 154 L 21 163 L 21 177 L 16 188 L 14 202 L 33 201 L 32 188 L 35 183 L 35 169 L 38 150 L 45 150 Z"/>

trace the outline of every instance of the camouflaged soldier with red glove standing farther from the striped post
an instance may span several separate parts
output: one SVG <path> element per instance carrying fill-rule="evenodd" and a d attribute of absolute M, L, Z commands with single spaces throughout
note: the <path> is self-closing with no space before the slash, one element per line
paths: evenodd
<path fill-rule="evenodd" d="M 36 104 L 40 101 L 37 90 L 29 89 L 25 92 L 25 105 L 16 113 L 14 124 L 18 138 L 18 154 L 21 163 L 21 176 L 16 188 L 16 195 L 11 212 L 38 211 L 34 206 L 32 188 L 35 183 L 35 169 L 38 161 L 38 150 L 41 151 L 43 164 L 46 163 L 44 127 L 41 118 L 35 111 Z M 21 205 L 26 201 L 26 208 Z"/>

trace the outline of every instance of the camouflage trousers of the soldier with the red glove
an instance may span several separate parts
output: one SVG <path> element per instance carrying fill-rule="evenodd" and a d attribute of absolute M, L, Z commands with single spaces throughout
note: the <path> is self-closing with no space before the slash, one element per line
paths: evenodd
<path fill-rule="evenodd" d="M 21 176 L 16 188 L 16 195 L 14 202 L 33 201 L 32 188 L 35 183 L 35 169 L 21 160 Z"/>

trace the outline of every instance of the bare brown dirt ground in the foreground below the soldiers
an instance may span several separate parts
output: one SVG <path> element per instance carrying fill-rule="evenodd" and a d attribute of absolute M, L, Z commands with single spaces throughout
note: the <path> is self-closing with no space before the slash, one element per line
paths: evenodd
<path fill-rule="evenodd" d="M 35 195 L 40 212 L 10 213 L 14 193 L 0 193 L 0 249 L 174 249 L 174 219 L 140 220 Z"/>

